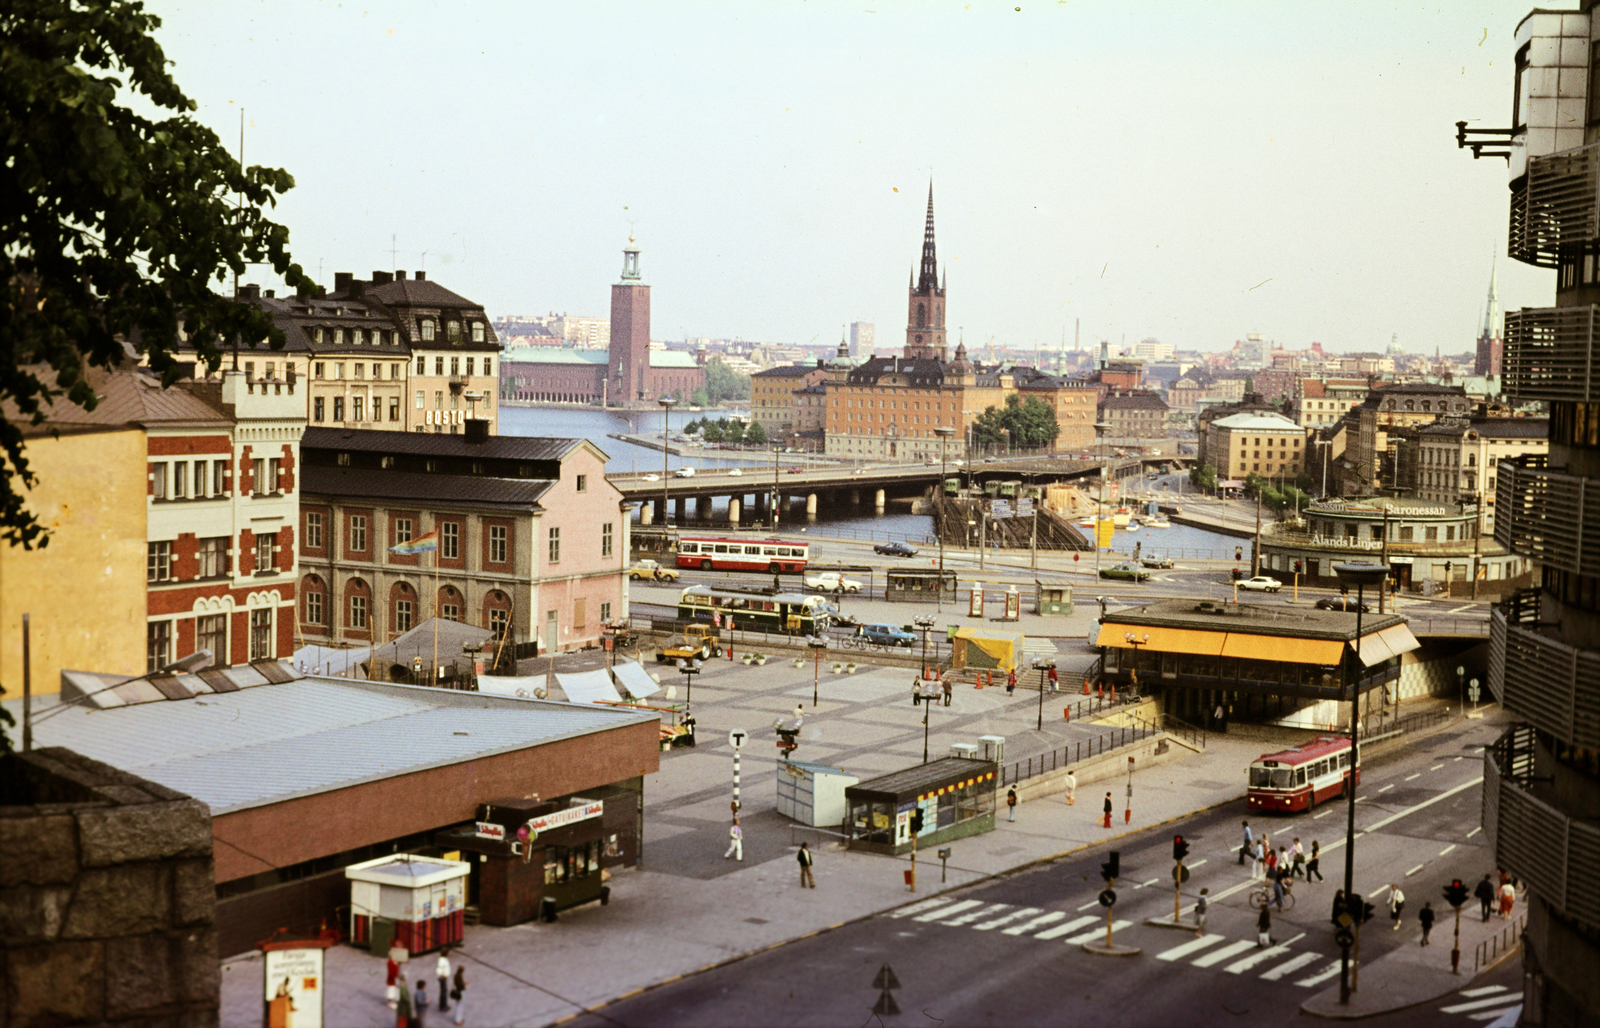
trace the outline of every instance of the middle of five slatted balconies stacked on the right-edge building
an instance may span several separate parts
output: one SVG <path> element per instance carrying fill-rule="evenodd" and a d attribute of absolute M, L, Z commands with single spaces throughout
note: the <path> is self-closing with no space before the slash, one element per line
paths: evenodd
<path fill-rule="evenodd" d="M 1549 468 L 1549 455 L 1499 463 L 1494 541 L 1562 572 L 1600 575 L 1600 482 Z"/>

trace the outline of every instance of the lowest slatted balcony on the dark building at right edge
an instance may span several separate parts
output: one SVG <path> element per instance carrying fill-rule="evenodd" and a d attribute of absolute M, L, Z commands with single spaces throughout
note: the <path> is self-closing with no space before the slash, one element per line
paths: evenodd
<path fill-rule="evenodd" d="M 1541 799 L 1534 775 L 1534 733 L 1509 730 L 1483 754 L 1483 831 L 1496 863 L 1528 882 L 1570 919 L 1600 926 L 1600 826 L 1570 818 Z"/>

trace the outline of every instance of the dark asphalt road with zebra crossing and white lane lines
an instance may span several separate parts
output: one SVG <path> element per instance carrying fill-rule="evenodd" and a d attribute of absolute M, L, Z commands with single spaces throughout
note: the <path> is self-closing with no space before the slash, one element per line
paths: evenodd
<path fill-rule="evenodd" d="M 1403 930 L 1390 930 L 1382 913 L 1366 927 L 1363 961 L 1416 945 L 1414 913 L 1422 902 L 1448 910 L 1440 898 L 1443 882 L 1454 876 L 1472 881 L 1493 868 L 1493 855 L 1475 831 L 1478 753 L 1493 732 L 1482 722 L 1464 722 L 1365 761 L 1355 885 L 1382 911 L 1387 882 L 1403 882 L 1408 903 Z M 1094 897 L 1107 847 L 1094 847 L 650 990 L 573 1025 L 1302 1023 L 1299 1004 L 1338 983 L 1328 918 L 1342 879 L 1344 807 L 1325 804 L 1294 818 L 1254 818 L 1275 842 L 1296 834 L 1307 844 L 1312 837 L 1323 842 L 1328 881 L 1296 887 L 1296 908 L 1274 916 L 1272 950 L 1256 946 L 1251 884 L 1237 865 L 1242 817 L 1245 804 L 1238 801 L 1117 845 L 1123 873 L 1114 910 L 1117 938 L 1142 946 L 1136 958 L 1082 950 L 1085 938 L 1104 932 Z M 1205 938 L 1144 924 L 1173 913 L 1174 833 L 1192 845 L 1184 908 L 1202 885 L 1216 897 Z M 960 842 L 952 849 L 955 863 Z M 1440 953 L 1448 959 L 1448 945 Z M 885 964 L 899 982 L 893 998 L 901 1014 L 877 1017 L 872 1006 L 880 993 L 872 983 Z M 1478 985 L 1486 986 L 1464 982 L 1464 988 Z M 1405 1023 L 1480 1023 L 1467 1022 L 1462 1010 L 1446 1012 L 1453 1006 L 1459 1004 L 1430 1004 Z"/>

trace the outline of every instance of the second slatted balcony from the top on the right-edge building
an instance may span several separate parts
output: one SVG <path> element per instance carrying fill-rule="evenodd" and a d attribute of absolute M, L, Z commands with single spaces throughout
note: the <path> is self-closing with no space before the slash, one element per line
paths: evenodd
<path fill-rule="evenodd" d="M 1520 400 L 1600 399 L 1594 381 L 1600 307 L 1523 307 L 1506 312 L 1504 388 Z"/>

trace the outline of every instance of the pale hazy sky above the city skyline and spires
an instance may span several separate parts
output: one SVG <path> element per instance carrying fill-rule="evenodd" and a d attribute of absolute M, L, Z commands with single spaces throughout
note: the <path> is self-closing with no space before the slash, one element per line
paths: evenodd
<path fill-rule="evenodd" d="M 904 338 L 930 176 L 968 344 L 1459 352 L 1506 240 L 1512 32 L 1475 0 L 155 0 L 198 117 L 288 168 L 296 258 L 656 338 Z M 1560 6 L 1560 5 L 1557 5 Z M 394 242 L 392 242 L 394 240 Z M 390 256 L 390 247 L 398 256 Z M 426 253 L 426 256 L 424 256 Z M 1499 261 L 1506 307 L 1554 272 Z M 258 275 L 264 285 L 274 285 Z"/>

